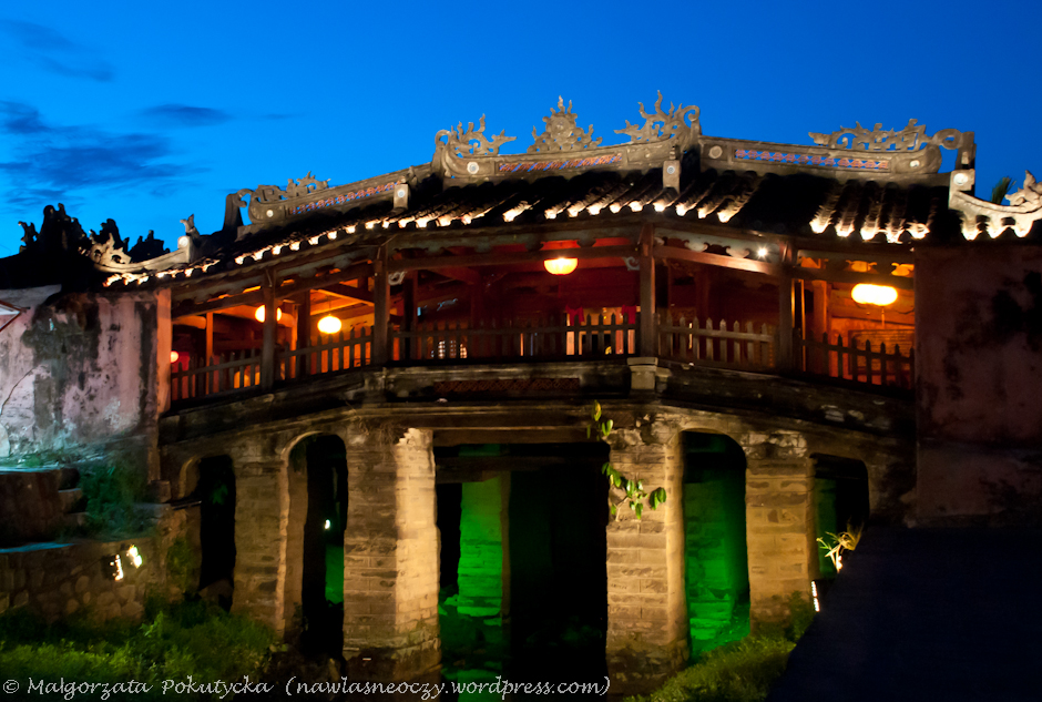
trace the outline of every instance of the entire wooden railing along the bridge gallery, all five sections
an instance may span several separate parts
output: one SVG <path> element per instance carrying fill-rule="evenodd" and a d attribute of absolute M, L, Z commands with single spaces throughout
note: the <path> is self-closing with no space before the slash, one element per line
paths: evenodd
<path fill-rule="evenodd" d="M 391 329 L 387 362 L 399 365 L 441 363 L 496 363 L 532 360 L 590 360 L 639 354 L 639 315 L 555 315 L 542 319 L 423 323 L 415 330 Z M 915 359 L 911 349 L 870 342 L 864 347 L 793 337 L 791 362 L 779 357 L 776 330 L 766 324 L 742 328 L 734 322 L 702 322 L 662 315 L 656 318 L 657 355 L 694 366 L 717 366 L 753 372 L 796 370 L 849 381 L 910 389 Z M 275 383 L 304 381 L 308 377 L 353 372 L 380 364 L 375 358 L 371 327 L 323 335 L 320 343 L 298 349 L 275 349 Z M 171 400 L 182 403 L 260 387 L 262 355 L 247 349 L 216 356 L 200 366 L 192 358 L 171 374 Z"/>

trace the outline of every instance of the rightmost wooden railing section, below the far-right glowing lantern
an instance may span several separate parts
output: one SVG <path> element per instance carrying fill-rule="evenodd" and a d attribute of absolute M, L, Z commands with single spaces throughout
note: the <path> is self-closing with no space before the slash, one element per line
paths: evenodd
<path fill-rule="evenodd" d="M 886 344 L 874 349 L 869 340 L 858 348 L 857 344 L 844 344 L 842 336 L 837 336 L 834 344 L 827 334 L 817 342 L 805 339 L 796 332 L 793 349 L 805 373 L 903 389 L 912 389 L 915 384 L 916 362 L 911 348 L 907 354 L 900 346 L 888 350 Z"/>

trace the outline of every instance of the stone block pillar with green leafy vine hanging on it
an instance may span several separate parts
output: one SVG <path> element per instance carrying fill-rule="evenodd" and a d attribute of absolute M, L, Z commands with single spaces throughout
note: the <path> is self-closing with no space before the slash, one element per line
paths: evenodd
<path fill-rule="evenodd" d="M 612 690 L 643 692 L 678 670 L 688 654 L 684 591 L 683 475 L 677 435 L 645 442 L 635 430 L 612 435 L 611 462 L 667 499 L 636 519 L 621 506 L 607 526 L 607 667 Z"/>

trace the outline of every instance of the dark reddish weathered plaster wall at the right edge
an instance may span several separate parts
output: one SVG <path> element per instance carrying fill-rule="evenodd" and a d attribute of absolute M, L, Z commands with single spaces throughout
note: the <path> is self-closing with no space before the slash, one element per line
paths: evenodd
<path fill-rule="evenodd" d="M 919 518 L 1036 520 L 1042 247 L 916 256 Z"/>

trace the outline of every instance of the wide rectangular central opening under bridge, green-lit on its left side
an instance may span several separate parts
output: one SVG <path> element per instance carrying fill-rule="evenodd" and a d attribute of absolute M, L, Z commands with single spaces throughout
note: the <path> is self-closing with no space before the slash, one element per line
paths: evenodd
<path fill-rule="evenodd" d="M 607 455 L 592 442 L 436 448 L 447 679 L 606 674 Z"/>

